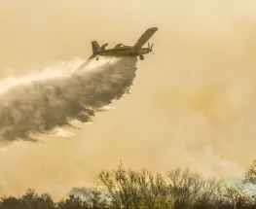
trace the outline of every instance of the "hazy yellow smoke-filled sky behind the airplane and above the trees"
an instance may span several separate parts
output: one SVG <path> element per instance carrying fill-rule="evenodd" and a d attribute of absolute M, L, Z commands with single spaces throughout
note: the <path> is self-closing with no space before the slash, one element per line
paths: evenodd
<path fill-rule="evenodd" d="M 238 178 L 256 158 L 253 0 L 0 0 L 0 76 L 91 55 L 91 41 L 132 45 L 145 29 L 155 55 L 131 93 L 68 138 L 0 151 L 0 192 L 65 195 L 122 160 L 167 172 L 189 166 Z"/>

